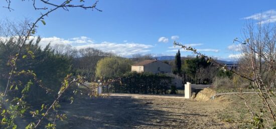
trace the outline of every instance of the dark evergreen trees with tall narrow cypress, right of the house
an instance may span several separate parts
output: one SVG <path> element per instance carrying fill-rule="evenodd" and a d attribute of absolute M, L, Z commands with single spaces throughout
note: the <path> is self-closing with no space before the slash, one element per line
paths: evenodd
<path fill-rule="evenodd" d="M 204 57 L 181 58 L 180 51 L 170 64 L 173 66 L 173 73 L 181 76 L 184 83 L 212 84 L 216 77 L 232 78 L 230 72 L 217 68 Z"/>

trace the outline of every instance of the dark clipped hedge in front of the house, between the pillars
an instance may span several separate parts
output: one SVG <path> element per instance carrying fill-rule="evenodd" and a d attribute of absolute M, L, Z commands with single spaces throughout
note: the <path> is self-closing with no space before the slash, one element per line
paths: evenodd
<path fill-rule="evenodd" d="M 172 77 L 165 74 L 148 72 L 128 72 L 120 77 L 120 82 L 114 82 L 109 92 L 138 94 L 168 94 Z M 107 89 L 104 89 L 107 90 Z"/>

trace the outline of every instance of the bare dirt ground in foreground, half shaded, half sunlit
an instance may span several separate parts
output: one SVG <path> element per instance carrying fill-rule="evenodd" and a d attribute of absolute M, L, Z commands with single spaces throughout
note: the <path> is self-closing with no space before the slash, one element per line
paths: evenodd
<path fill-rule="evenodd" d="M 108 96 L 61 105 L 68 118 L 57 123 L 57 129 L 238 128 L 238 124 L 222 121 L 218 116 L 229 106 L 222 101 Z"/>

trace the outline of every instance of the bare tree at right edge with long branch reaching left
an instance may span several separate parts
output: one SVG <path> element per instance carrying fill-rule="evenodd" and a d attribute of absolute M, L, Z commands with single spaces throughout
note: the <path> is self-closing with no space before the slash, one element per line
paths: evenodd
<path fill-rule="evenodd" d="M 260 19 L 261 21 L 261 19 Z M 261 107 L 251 107 L 246 101 L 242 90 L 240 89 L 240 98 L 252 116 L 252 124 L 257 128 L 273 127 L 276 124 L 276 104 L 272 99 L 274 96 L 272 88 L 276 79 L 276 26 L 271 24 L 262 24 L 262 22 L 248 22 L 243 30 L 243 38 L 236 38 L 240 46 L 241 63 L 239 69 L 228 69 L 226 65 L 216 62 L 211 57 L 198 52 L 195 48 L 185 46 L 175 42 L 186 50 L 193 51 L 214 64 L 229 70 L 239 77 L 248 80 L 251 88 L 261 101 Z"/>

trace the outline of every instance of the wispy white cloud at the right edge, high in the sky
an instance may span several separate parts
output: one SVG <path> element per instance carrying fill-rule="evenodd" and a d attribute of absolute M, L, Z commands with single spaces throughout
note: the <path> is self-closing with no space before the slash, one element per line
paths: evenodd
<path fill-rule="evenodd" d="M 264 12 L 255 13 L 253 15 L 243 17 L 242 19 L 260 20 L 261 24 L 276 22 L 276 11 L 274 9 Z"/>

